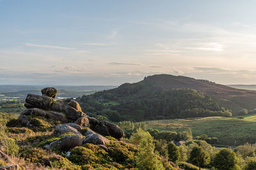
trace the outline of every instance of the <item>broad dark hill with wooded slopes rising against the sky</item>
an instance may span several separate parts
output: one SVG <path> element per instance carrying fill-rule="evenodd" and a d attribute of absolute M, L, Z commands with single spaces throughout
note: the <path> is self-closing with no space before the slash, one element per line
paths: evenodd
<path fill-rule="evenodd" d="M 127 118 L 141 121 L 230 117 L 231 110 L 236 114 L 243 108 L 255 108 L 256 91 L 234 89 L 185 76 L 159 74 L 145 77 L 138 83 L 124 83 L 116 89 L 83 96 L 77 101 L 81 103 L 84 111 L 92 115 L 100 112 L 115 122 Z"/>

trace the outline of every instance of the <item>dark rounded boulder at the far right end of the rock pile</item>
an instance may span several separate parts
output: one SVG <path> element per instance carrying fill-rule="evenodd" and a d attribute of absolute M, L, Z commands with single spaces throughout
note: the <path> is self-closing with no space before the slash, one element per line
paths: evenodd
<path fill-rule="evenodd" d="M 101 121 L 95 126 L 95 131 L 104 136 L 112 136 L 116 139 L 122 139 L 124 131 L 118 125 L 108 121 Z"/>

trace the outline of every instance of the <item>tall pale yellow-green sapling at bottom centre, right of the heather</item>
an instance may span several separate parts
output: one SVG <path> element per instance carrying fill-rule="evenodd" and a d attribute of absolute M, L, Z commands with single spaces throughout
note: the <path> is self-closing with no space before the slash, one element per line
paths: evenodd
<path fill-rule="evenodd" d="M 139 143 L 139 152 L 136 156 L 138 169 L 164 169 L 159 157 L 154 153 L 153 140 L 148 132 L 141 129 L 131 136 L 131 141 Z"/>

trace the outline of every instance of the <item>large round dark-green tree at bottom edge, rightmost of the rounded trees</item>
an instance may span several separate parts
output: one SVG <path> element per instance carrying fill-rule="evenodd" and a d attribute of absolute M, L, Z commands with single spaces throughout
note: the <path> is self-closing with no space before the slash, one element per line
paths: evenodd
<path fill-rule="evenodd" d="M 213 159 L 213 165 L 221 170 L 235 170 L 240 169 L 238 166 L 238 159 L 236 153 L 228 148 L 222 148 L 216 153 Z"/>

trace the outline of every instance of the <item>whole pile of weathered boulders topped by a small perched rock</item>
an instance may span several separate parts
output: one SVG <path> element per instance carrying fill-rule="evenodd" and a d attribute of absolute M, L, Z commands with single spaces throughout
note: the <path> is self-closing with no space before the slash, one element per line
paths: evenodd
<path fill-rule="evenodd" d="M 95 145 L 106 145 L 109 142 L 104 136 L 112 136 L 122 140 L 124 131 L 118 125 L 108 121 L 99 122 L 96 118 L 88 117 L 79 103 L 73 99 L 59 99 L 54 101 L 58 90 L 53 87 L 47 87 L 41 90 L 42 96 L 28 94 L 26 97 L 26 110 L 24 110 L 18 120 L 22 124 L 30 127 L 30 116 L 51 118 L 60 121 L 63 124 L 56 125 L 53 136 L 67 134 L 62 138 L 53 141 L 45 148 L 58 148 L 60 150 L 70 150 L 75 146 L 81 146 L 83 143 L 93 143 Z M 83 135 L 81 131 L 84 128 L 90 128 Z"/>

